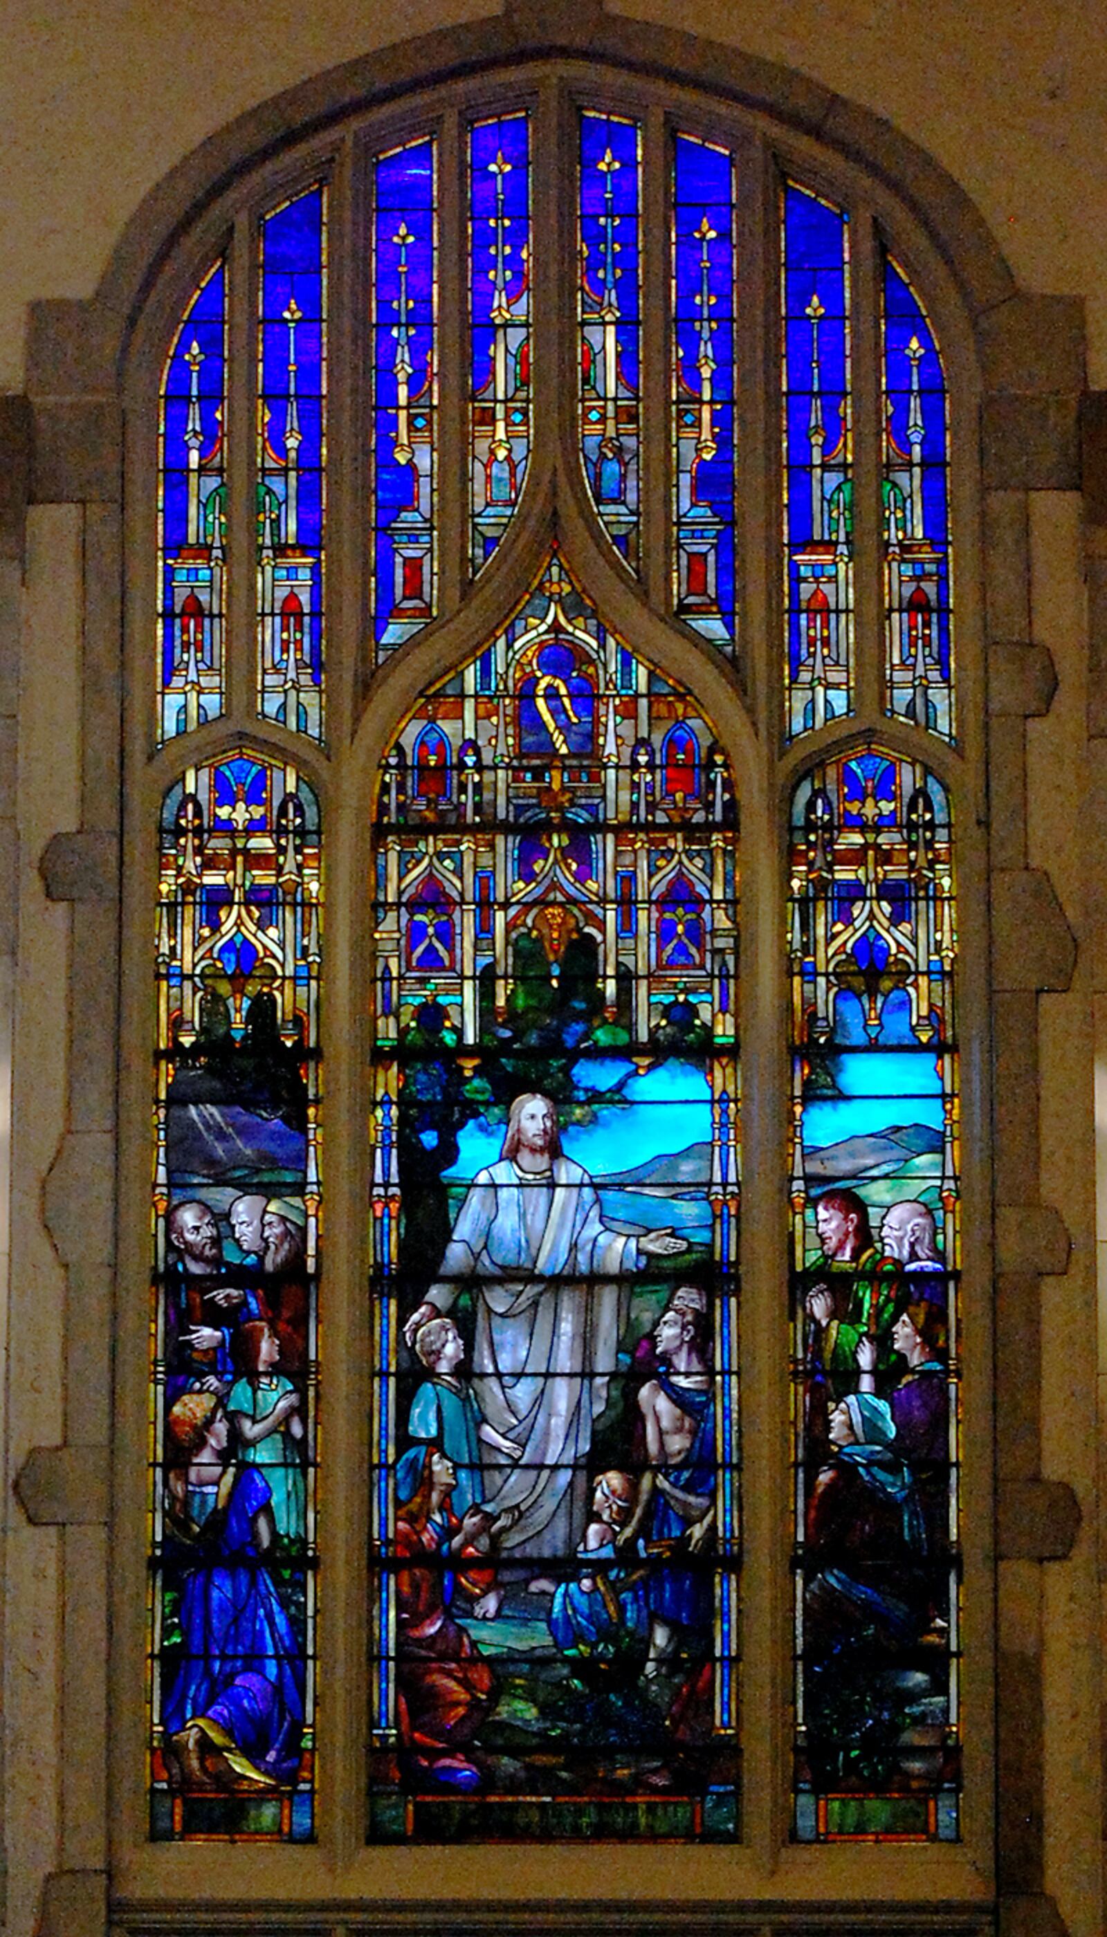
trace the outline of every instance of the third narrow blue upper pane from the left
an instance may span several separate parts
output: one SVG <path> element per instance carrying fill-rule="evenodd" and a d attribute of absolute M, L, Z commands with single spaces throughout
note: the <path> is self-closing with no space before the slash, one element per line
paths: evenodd
<path fill-rule="evenodd" d="M 374 161 L 372 610 L 378 653 L 434 618 L 438 416 L 436 141 Z"/>

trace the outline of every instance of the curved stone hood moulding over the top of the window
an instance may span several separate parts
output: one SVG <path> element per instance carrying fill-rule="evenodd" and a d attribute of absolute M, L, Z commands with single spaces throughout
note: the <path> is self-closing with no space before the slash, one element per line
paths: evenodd
<path fill-rule="evenodd" d="M 669 85 L 680 79 L 859 161 L 938 240 L 973 318 L 1016 294 L 1002 250 L 964 188 L 869 108 L 733 46 L 607 14 L 599 0 L 585 0 L 572 15 L 553 0 L 518 0 L 498 17 L 444 27 L 332 68 L 209 136 L 140 203 L 91 300 L 50 298 L 33 306 L 29 387 L 52 389 L 50 376 L 64 368 L 70 393 L 111 393 L 134 320 L 186 229 L 289 139 L 316 138 L 366 108 L 417 93 L 428 76 L 440 83 L 549 56 L 607 60 L 632 74 L 665 77 Z"/>

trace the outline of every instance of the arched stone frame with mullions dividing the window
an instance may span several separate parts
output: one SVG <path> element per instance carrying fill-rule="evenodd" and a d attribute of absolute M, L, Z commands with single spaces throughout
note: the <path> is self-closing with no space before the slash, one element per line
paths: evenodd
<path fill-rule="evenodd" d="M 361 1784 L 357 1780 L 359 1703 L 343 1705 L 345 1736 L 335 1741 L 324 1811 L 332 1825 L 318 1852 L 269 1852 L 264 1860 L 240 1852 L 219 1852 L 206 1871 L 196 1852 L 149 1850 L 142 1846 L 142 1819 L 136 1817 L 134 1770 L 140 1726 L 138 1695 L 128 1681 L 140 1654 L 136 1608 L 142 1604 L 142 1447 L 145 1445 L 145 1354 L 143 1319 L 128 1288 L 145 1278 L 143 1216 L 147 1187 L 147 1092 L 145 1056 L 149 1044 L 149 897 L 151 897 L 151 804 L 163 781 L 180 763 L 173 746 L 147 757 L 143 728 L 143 686 L 149 678 L 143 657 L 145 631 L 122 649 L 126 614 L 120 587 L 124 558 L 138 558 L 128 571 L 142 573 L 149 546 L 149 422 L 151 370 L 165 339 L 167 320 L 180 308 L 190 271 L 213 252 L 213 238 L 233 221 L 233 211 L 264 180 L 264 194 L 279 190 L 285 172 L 297 172 L 306 157 L 332 151 L 335 130 L 353 118 L 374 116 L 374 128 L 395 118 L 407 122 L 417 112 L 427 87 L 452 89 L 458 99 L 469 87 L 494 89 L 496 70 L 551 62 L 570 74 L 572 64 L 601 64 L 618 89 L 618 74 L 628 85 L 642 79 L 646 95 L 663 83 L 665 101 L 679 101 L 690 89 L 700 101 L 717 103 L 721 122 L 739 108 L 739 122 L 764 134 L 779 151 L 795 157 L 807 178 L 820 174 L 834 184 L 853 209 L 869 207 L 915 267 L 927 300 L 934 308 L 946 347 L 954 399 L 954 519 L 960 542 L 960 637 L 962 637 L 962 717 L 965 721 L 964 759 L 933 748 L 934 769 L 948 777 L 960 798 L 962 829 L 962 934 L 965 961 L 965 1110 L 973 1114 L 977 1137 L 973 1168 L 965 1176 L 967 1236 L 975 1255 L 965 1251 L 969 1284 L 991 1282 L 991 1230 L 995 1216 L 995 1269 L 1002 1300 L 1004 1327 L 998 1340 L 998 1389 L 1004 1404 L 995 1412 L 987 1383 L 991 1323 L 983 1311 L 971 1319 L 967 1358 L 969 1424 L 981 1435 L 975 1476 L 969 1472 L 967 1509 L 977 1540 L 979 1606 L 991 1555 L 998 1561 L 1000 1608 L 1004 1565 L 1045 1561 L 1064 1550 L 1072 1534 L 1064 1490 L 1039 1478 L 1037 1364 L 1037 1276 L 1064 1269 L 1066 1232 L 1055 1211 L 1041 1203 L 1037 1176 L 1037 992 L 1064 988 L 1072 970 L 1072 938 L 1053 895 L 1049 877 L 1028 868 L 1026 846 L 1026 719 L 1043 713 L 1053 695 L 1053 670 L 1045 649 L 1029 639 L 1028 600 L 1028 500 L 1029 490 L 1072 488 L 1078 480 L 1076 411 L 1082 389 L 1080 322 L 1066 298 L 1022 294 L 1002 261 L 983 221 L 964 194 L 929 157 L 861 108 L 783 70 L 764 62 L 743 62 L 731 50 L 690 37 L 646 27 L 624 17 L 578 8 L 572 21 L 554 10 L 520 8 L 506 19 L 430 35 L 419 43 L 355 62 L 277 103 L 244 116 L 213 138 L 174 170 L 143 203 L 128 225 L 105 275 L 101 291 L 87 302 L 45 302 L 35 306 L 29 349 L 29 405 L 6 411 L 6 442 L 12 447 L 8 480 L 16 486 L 12 527 L 19 529 L 23 504 L 50 502 L 83 506 L 83 781 L 81 825 L 70 837 L 56 837 L 43 856 L 47 893 L 74 903 L 74 1013 L 81 1015 L 83 1054 L 70 1079 L 70 1129 L 62 1141 L 47 1184 L 47 1222 L 68 1267 L 70 1323 L 66 1329 L 66 1377 L 70 1406 L 66 1445 L 31 1455 L 19 1480 L 23 1505 L 37 1522 L 66 1532 L 66 1606 L 81 1600 L 99 1610 L 109 1604 L 109 1553 L 118 1553 L 114 1584 L 114 1641 L 111 1683 L 91 1646 L 70 1637 L 64 1679 L 62 1730 L 72 1745 L 64 1790 L 64 1817 L 70 1825 L 66 1871 L 54 1879 L 47 1900 L 45 1929 L 103 1927 L 107 1877 L 118 1902 L 114 1927 L 120 1931 L 171 1929 L 180 1922 L 180 1906 L 196 1906 L 206 1896 L 225 1898 L 223 1908 L 204 1920 L 192 1912 L 194 1927 L 229 1929 L 256 1918 L 260 1898 L 289 1916 L 293 1904 L 310 1916 L 312 1927 L 339 1923 L 351 1929 L 405 1922 L 413 1904 L 388 1908 L 405 1894 L 477 1898 L 487 1889 L 500 1904 L 510 1896 L 553 1896 L 595 1902 L 611 1891 L 611 1861 L 589 1869 L 587 1852 L 533 1852 L 522 1865 L 508 1858 L 494 1877 L 494 1852 L 485 1852 L 481 1877 L 458 1863 L 458 1877 L 440 1889 L 442 1865 L 430 1865 L 419 1879 L 417 1865 L 395 1867 L 382 1852 L 359 1850 Z M 580 72 L 580 70 L 576 70 Z M 428 76 L 434 79 L 428 81 Z M 661 95 L 657 95 L 661 99 Z M 710 110 L 708 110 L 710 112 Z M 289 130 L 293 132 L 289 136 Z M 551 209 L 556 232 L 556 209 Z M 768 227 L 768 211 L 766 211 Z M 750 248 L 764 246 L 756 236 Z M 564 248 L 564 238 L 562 238 Z M 335 252 L 337 256 L 337 252 Z M 341 273 L 341 271 L 339 271 Z M 343 345 L 335 335 L 335 364 L 341 382 Z M 562 395 L 572 385 L 562 384 Z M 143 416 L 145 411 L 145 416 Z M 564 426 L 562 426 L 564 428 Z M 756 434 L 756 426 L 754 426 Z M 764 426 L 762 426 L 764 436 Z M 126 442 L 126 465 L 124 465 Z M 541 444 L 541 434 L 539 434 Z M 31 455 L 33 453 L 33 455 Z M 19 459 L 23 457 L 23 467 Z M 977 461 L 979 459 L 979 461 Z M 539 449 L 541 461 L 541 449 Z M 758 465 L 754 447 L 752 465 Z M 762 469 L 768 457 L 762 446 Z M 349 475 L 353 471 L 353 475 Z M 126 473 L 126 500 L 124 500 Z M 25 488 L 19 490 L 23 475 Z M 768 473 L 766 473 L 768 475 Z M 355 614 L 335 610 L 333 637 L 345 637 L 345 657 L 332 659 L 332 744 L 351 752 L 341 792 L 326 757 L 299 748 L 302 769 L 318 786 L 330 831 L 332 879 L 332 965 L 353 959 L 359 829 L 368 825 L 368 788 L 376 757 L 390 724 L 401 717 L 415 693 L 434 674 L 454 664 L 479 635 L 490 635 L 504 612 L 500 585 L 508 585 L 518 562 L 535 554 L 539 537 L 556 527 L 574 568 L 584 575 L 603 614 L 628 637 L 636 637 L 657 664 L 673 664 L 694 684 L 698 697 L 727 736 L 737 767 L 744 808 L 744 856 L 750 899 L 762 908 L 762 945 L 748 967 L 748 988 L 762 1005 L 762 1030 L 750 1030 L 750 1089 L 760 1096 L 758 1135 L 783 1153 L 783 1048 L 774 1054 L 770 1025 L 783 1013 L 783 978 L 775 957 L 779 924 L 770 910 L 779 908 L 783 887 L 783 808 L 795 773 L 810 759 L 812 746 L 801 744 L 779 761 L 764 732 L 770 653 L 775 631 L 764 622 L 766 589 L 748 587 L 746 639 L 752 641 L 746 693 L 727 678 L 706 649 L 680 637 L 680 659 L 669 628 L 644 610 L 626 579 L 597 544 L 580 490 L 566 488 L 566 475 L 554 480 L 553 459 L 545 477 L 535 475 L 520 517 L 502 546 L 494 573 L 487 573 L 456 620 L 444 620 L 434 633 L 378 676 L 372 709 L 366 713 L 368 668 L 357 666 L 353 641 Z M 341 492 L 341 465 L 337 488 Z M 347 506 L 357 502 L 357 469 L 347 467 Z M 762 506 L 768 496 L 762 494 Z M 335 550 L 345 550 L 347 579 L 353 577 L 349 550 L 355 544 L 355 517 L 337 509 Z M 764 531 L 762 554 L 775 537 Z M 758 535 L 748 535 L 748 550 L 758 550 Z M 16 540 L 12 540 L 16 542 Z M 130 554 L 130 546 L 136 552 Z M 518 583 L 518 579 L 516 579 Z M 341 597 L 341 595 L 339 595 Z M 138 630 L 138 628 L 136 628 Z M 760 657 L 758 657 L 760 655 Z M 690 662 L 694 661 L 694 672 Z M 337 678 L 335 678 L 337 674 Z M 246 680 L 248 684 L 248 680 Z M 124 709 L 122 734 L 107 730 L 114 709 Z M 242 695 L 246 705 L 246 695 Z M 750 723 L 760 707 L 762 736 Z M 985 744 L 987 717 L 987 744 Z M 355 721 L 359 724 L 355 726 Z M 855 723 L 861 730 L 861 719 Z M 198 750 L 221 748 L 240 730 L 227 724 L 204 728 Z M 898 742 L 894 723 L 880 723 L 880 734 Z M 279 728 L 252 732 L 260 744 L 281 746 Z M 832 736 L 828 734 L 828 740 Z M 845 738 L 851 738 L 847 734 Z M 820 742 L 826 744 L 826 742 Z M 126 752 L 120 752 L 126 750 Z M 122 765 L 120 765 L 122 761 Z M 126 779 L 126 812 L 120 815 L 120 775 Z M 987 827 L 987 839 L 983 829 Z M 122 899 L 116 885 L 122 883 Z M 991 924 L 989 924 L 991 912 Z M 989 953 L 991 930 L 991 953 Z M 991 980 L 985 965 L 991 963 Z M 116 976 L 122 1013 L 116 1015 Z M 345 1197 L 349 1211 L 339 1218 L 330 1253 L 330 1431 L 328 1488 L 332 1491 L 328 1573 L 333 1606 L 353 1608 L 361 1569 L 357 1507 L 357 1391 L 359 1364 L 357 1261 L 359 1230 L 359 1147 L 364 1122 L 357 1058 L 343 1061 L 333 1044 L 359 1042 L 364 990 L 332 968 L 330 982 L 330 1151 L 332 1195 Z M 760 1034 L 760 1048 L 756 1038 Z M 120 1058 L 122 1044 L 122 1060 Z M 991 1054 L 991 1073 L 989 1073 Z M 760 1061 L 758 1061 L 760 1058 Z M 120 1077 L 116 1102 L 116 1071 Z M 993 1098 L 995 1102 L 989 1102 Z M 768 1189 L 775 1189 L 770 1178 Z M 136 1203 L 143 1211 L 136 1218 Z M 774 1259 L 772 1222 L 775 1207 L 758 1214 L 748 1209 L 750 1249 L 746 1282 L 766 1284 L 764 1309 L 772 1311 Z M 975 1232 L 971 1218 L 977 1218 Z M 345 1222 L 345 1230 L 343 1230 Z M 138 1234 L 136 1234 L 138 1224 Z M 118 1232 L 118 1245 L 116 1245 Z M 136 1278 L 138 1267 L 138 1278 Z M 112 1391 L 112 1298 L 114 1298 L 114 1412 L 105 1395 Z M 764 1362 L 762 1362 L 764 1358 Z M 754 1433 L 783 1449 L 785 1395 L 772 1354 L 754 1342 L 746 1366 L 746 1422 Z M 975 1360 L 975 1366 L 973 1366 Z M 775 1383 L 774 1383 L 775 1381 Z M 973 1393 L 975 1383 L 975 1393 Z M 345 1391 L 343 1391 L 345 1387 Z M 345 1422 L 345 1424 L 343 1424 Z M 998 1474 L 995 1540 L 993 1460 L 983 1453 L 995 1443 Z M 770 1468 L 772 1472 L 772 1462 Z M 138 1490 L 136 1490 L 138 1484 Z M 783 1635 L 779 1581 L 783 1563 L 783 1493 L 774 1495 L 772 1478 L 760 1503 L 750 1501 L 754 1522 L 748 1532 L 746 1565 L 746 1716 L 764 1708 L 781 1710 Z M 109 1513 L 114 1521 L 109 1522 Z M 109 1544 L 112 1526 L 116 1546 Z M 345 1528 L 341 1540 L 337 1526 Z M 345 1544 L 343 1544 L 345 1542 Z M 770 1559 L 770 1555 L 774 1555 Z M 1037 1571 L 1031 1577 L 1037 1581 Z M 1037 1645 L 1035 1645 L 1037 1619 Z M 989 1803 L 991 1768 L 991 1660 L 981 1643 L 969 1676 L 975 1674 L 977 1736 L 969 1734 L 967 1794 L 969 1827 L 962 1852 L 787 1850 L 781 1846 L 781 1796 L 785 1788 L 777 1736 L 770 1736 L 764 1790 L 750 1796 L 746 1842 L 733 1852 L 636 1852 L 634 1877 L 620 1877 L 620 1894 L 644 1902 L 680 1898 L 688 1914 L 696 1904 L 725 1898 L 748 1906 L 758 1925 L 787 1927 L 787 1900 L 853 1904 L 851 1922 L 876 1927 L 892 1916 L 903 1920 L 911 1904 L 911 1923 L 923 1927 L 921 1906 L 944 1898 L 942 1927 L 985 1927 L 995 1896 L 1010 1914 L 1033 1914 L 1041 1892 L 1041 1759 L 1028 1743 L 1041 1737 L 1041 1614 L 1028 1615 L 1026 1592 L 1018 1627 L 1018 1646 L 1002 1654 L 995 1676 L 998 1811 L 993 1823 Z M 345 1645 L 332 1621 L 330 1646 Z M 74 1617 L 76 1627 L 76 1617 Z M 353 1648 L 353 1643 L 351 1643 Z M 335 1683 L 357 1687 L 355 1648 L 349 1662 L 330 1658 Z M 109 1724 L 109 1716 L 112 1718 Z M 339 1722 L 337 1705 L 333 1712 Z M 775 1747 L 772 1747 L 775 1739 Z M 111 1747 L 111 1757 L 109 1757 Z M 112 1846 L 103 1809 L 105 1768 L 111 1761 Z M 750 1784 L 750 1788 L 754 1788 Z M 923 1858 L 923 1861 L 921 1861 Z M 892 1877 L 890 1871 L 896 1869 Z M 607 1883 L 599 1885 L 597 1879 Z M 262 1881 L 264 1879 L 264 1881 Z M 250 1898 L 252 1908 L 246 1908 Z M 1018 1900 L 1018 1902 L 1016 1902 Z M 169 1906 L 176 1902 L 176 1912 Z M 165 1906 L 165 1908 L 155 1908 Z M 237 1906 L 237 1908 L 235 1908 Z M 756 1906 L 756 1908 L 754 1908 Z M 772 1906 L 772 1908 L 770 1908 Z M 605 1912 L 611 1918 L 613 1912 Z M 1041 1904 L 1041 1914 L 1045 1904 Z M 574 1916 L 570 1912 L 570 1916 Z M 576 1914 L 578 1918 L 580 1914 Z M 675 1916 L 673 1902 L 665 1920 Z M 810 1916 L 810 1912 L 808 1912 Z M 99 1918 L 99 1923 L 97 1923 Z M 574 1918 L 574 1920 L 576 1920 Z M 746 1910 L 733 1912 L 735 1923 Z M 50 1922 L 52 1920 L 52 1922 Z M 423 1914 L 427 1922 L 427 1914 Z M 477 1910 L 458 1922 L 473 1925 Z M 636 1914 L 642 1922 L 642 1914 Z"/>

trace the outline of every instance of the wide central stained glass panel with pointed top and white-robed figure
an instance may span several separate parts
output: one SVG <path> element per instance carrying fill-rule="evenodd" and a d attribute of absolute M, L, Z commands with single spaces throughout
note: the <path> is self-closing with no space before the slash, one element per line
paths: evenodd
<path fill-rule="evenodd" d="M 739 1832 L 735 841 L 556 552 L 384 757 L 372 1840 Z"/>

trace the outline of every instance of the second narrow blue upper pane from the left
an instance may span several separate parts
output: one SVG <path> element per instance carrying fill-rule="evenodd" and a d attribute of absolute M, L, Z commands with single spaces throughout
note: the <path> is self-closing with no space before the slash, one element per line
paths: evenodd
<path fill-rule="evenodd" d="M 322 740 L 328 192 L 262 223 L 258 320 L 258 711 Z"/>

